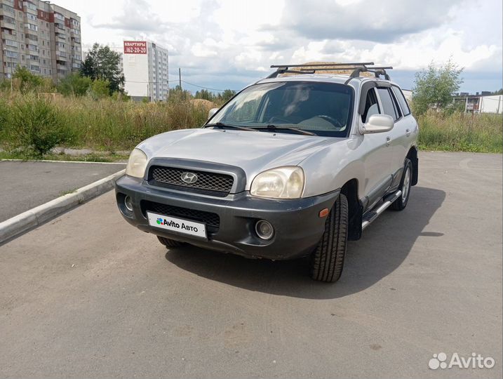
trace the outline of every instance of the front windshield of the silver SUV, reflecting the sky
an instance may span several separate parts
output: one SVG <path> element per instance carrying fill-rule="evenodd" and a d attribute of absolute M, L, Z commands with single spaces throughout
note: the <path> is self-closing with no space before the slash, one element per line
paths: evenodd
<path fill-rule="evenodd" d="M 293 133 L 345 137 L 351 125 L 353 90 L 312 81 L 255 84 L 227 103 L 209 124 L 229 124 Z M 290 129 L 287 129 L 287 128 Z M 284 128 L 284 129 L 282 129 Z"/>

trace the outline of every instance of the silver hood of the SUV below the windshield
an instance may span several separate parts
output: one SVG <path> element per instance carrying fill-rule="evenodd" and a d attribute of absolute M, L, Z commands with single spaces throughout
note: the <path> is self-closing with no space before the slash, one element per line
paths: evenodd
<path fill-rule="evenodd" d="M 138 148 L 147 154 L 148 159 L 194 159 L 238 166 L 250 180 L 269 168 L 297 166 L 309 155 L 340 139 L 317 135 L 198 128 L 155 135 L 140 143 Z"/>

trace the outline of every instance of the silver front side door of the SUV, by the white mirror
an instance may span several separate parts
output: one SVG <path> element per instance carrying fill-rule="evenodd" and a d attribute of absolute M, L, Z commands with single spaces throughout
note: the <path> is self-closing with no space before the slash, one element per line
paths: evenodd
<path fill-rule="evenodd" d="M 372 114 L 384 114 L 384 104 L 377 96 L 375 88 L 367 93 L 365 110 L 361 122 L 365 124 Z M 393 158 L 390 132 L 363 135 L 361 151 L 365 165 L 365 198 L 367 206 L 373 206 L 391 185 L 391 160 Z"/>

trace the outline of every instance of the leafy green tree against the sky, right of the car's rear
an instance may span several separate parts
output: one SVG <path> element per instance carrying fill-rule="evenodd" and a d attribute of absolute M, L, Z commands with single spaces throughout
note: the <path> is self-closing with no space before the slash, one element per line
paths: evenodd
<path fill-rule="evenodd" d="M 423 114 L 429 107 L 449 109 L 452 106 L 452 93 L 459 91 L 463 79 L 459 68 L 452 60 L 435 67 L 431 62 L 427 69 L 416 72 L 413 88 L 413 112 Z"/>

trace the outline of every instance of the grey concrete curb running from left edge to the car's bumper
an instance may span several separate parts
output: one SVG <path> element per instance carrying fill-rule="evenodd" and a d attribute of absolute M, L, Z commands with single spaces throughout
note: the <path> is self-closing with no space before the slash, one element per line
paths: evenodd
<path fill-rule="evenodd" d="M 81 187 L 71 194 L 65 194 L 62 197 L 48 201 L 46 204 L 36 206 L 20 215 L 15 215 L 13 218 L 0 222 L 0 244 L 109 191 L 114 187 L 117 178 L 123 175 L 125 171 L 121 170 L 90 185 Z"/>

